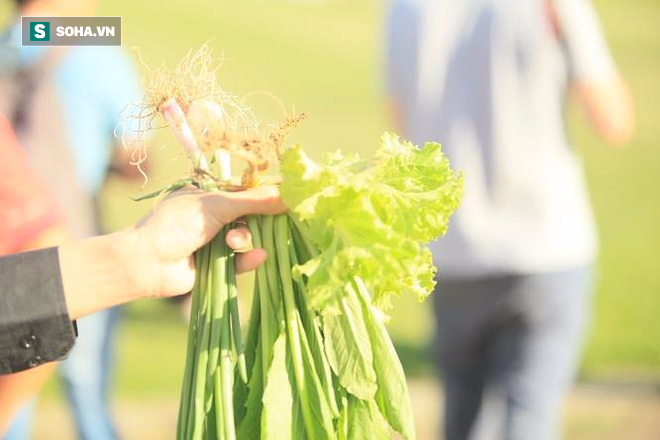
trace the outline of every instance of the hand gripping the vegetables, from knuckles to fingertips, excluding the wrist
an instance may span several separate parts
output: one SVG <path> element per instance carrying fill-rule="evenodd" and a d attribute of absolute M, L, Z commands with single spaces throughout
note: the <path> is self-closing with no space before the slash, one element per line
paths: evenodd
<path fill-rule="evenodd" d="M 285 210 L 275 187 L 234 193 L 193 189 L 172 193 L 133 228 L 136 253 L 131 259 L 137 269 L 131 276 L 133 289 L 147 297 L 189 292 L 195 282 L 193 253 L 225 225 L 247 214 L 272 215 Z M 263 249 L 251 249 L 252 237 L 245 227 L 229 231 L 226 241 L 238 252 L 237 273 L 254 270 L 267 258 Z"/>

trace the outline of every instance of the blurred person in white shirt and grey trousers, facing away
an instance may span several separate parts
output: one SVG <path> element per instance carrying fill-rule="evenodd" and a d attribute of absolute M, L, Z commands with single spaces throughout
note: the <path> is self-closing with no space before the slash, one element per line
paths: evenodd
<path fill-rule="evenodd" d="M 558 437 L 590 311 L 596 227 L 569 96 L 615 145 L 631 97 L 589 0 L 394 0 L 395 128 L 465 173 L 432 247 L 447 440 Z"/>

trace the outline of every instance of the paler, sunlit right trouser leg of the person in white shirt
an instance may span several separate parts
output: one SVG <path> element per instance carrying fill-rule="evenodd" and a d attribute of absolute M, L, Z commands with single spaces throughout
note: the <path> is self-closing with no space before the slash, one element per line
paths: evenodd
<path fill-rule="evenodd" d="M 555 440 L 589 321 L 591 269 L 519 276 L 505 294 L 475 438 Z"/>

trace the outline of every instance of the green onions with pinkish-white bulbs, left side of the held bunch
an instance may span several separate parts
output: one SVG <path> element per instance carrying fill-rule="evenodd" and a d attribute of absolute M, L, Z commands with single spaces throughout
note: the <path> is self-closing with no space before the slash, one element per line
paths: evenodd
<path fill-rule="evenodd" d="M 213 176 L 206 156 L 197 145 L 186 116 L 174 99 L 165 101 L 160 111 L 175 132 L 196 174 L 190 180 L 205 191 L 219 191 L 231 176 L 229 156 L 216 152 Z M 177 182 L 176 187 L 180 186 Z M 173 185 L 173 186 L 174 186 Z M 241 334 L 235 272 L 235 254 L 220 233 L 195 254 L 196 280 L 191 293 L 186 364 L 181 387 L 177 439 L 236 439 L 234 383 L 247 383 L 247 364 Z"/>

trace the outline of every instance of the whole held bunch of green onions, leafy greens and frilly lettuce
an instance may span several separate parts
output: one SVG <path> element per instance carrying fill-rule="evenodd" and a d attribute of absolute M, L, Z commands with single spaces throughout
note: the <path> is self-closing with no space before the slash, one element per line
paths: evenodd
<path fill-rule="evenodd" d="M 268 259 L 249 295 L 245 337 L 234 270 L 241 256 L 227 246 L 229 228 L 196 253 L 176 438 L 379 440 L 396 431 L 413 440 L 383 310 L 392 296 L 432 291 L 426 245 L 446 232 L 461 176 L 439 144 L 418 148 L 393 134 L 370 160 L 338 151 L 315 162 L 299 146 L 285 151 L 302 115 L 264 128 L 219 88 L 209 65 L 203 48 L 147 87 L 144 119 L 160 114 L 192 163 L 189 177 L 163 191 L 192 184 L 234 197 L 279 168 L 271 179 L 282 182 L 290 212 L 246 218 Z"/>

